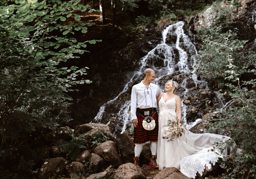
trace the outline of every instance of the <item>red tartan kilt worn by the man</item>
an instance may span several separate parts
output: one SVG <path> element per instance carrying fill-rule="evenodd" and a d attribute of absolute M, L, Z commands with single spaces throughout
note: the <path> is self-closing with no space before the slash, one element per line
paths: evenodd
<path fill-rule="evenodd" d="M 153 115 L 153 116 L 152 116 Z M 156 122 L 156 127 L 152 131 L 147 131 L 143 128 L 142 122 L 144 120 L 143 116 L 140 114 L 136 114 L 138 123 L 137 123 L 137 128 L 134 128 L 134 133 L 133 133 L 133 143 L 145 143 L 147 141 L 153 141 L 156 142 L 158 141 L 158 112 L 154 112 L 150 114 L 149 116 L 152 116 L 153 119 Z"/>

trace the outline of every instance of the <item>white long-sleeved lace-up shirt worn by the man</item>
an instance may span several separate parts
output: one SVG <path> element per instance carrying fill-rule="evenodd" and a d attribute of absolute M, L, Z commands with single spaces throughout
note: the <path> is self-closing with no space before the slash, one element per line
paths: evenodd
<path fill-rule="evenodd" d="M 136 119 L 136 108 L 158 107 L 157 98 L 161 94 L 160 87 L 149 83 L 148 88 L 143 81 L 132 87 L 131 90 L 131 119 Z"/>

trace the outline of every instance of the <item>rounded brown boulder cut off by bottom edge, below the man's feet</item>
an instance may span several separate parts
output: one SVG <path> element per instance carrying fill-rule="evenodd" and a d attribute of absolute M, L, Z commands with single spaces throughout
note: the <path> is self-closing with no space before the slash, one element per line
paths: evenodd
<path fill-rule="evenodd" d="M 142 168 L 132 163 L 121 165 L 114 174 L 114 179 L 146 179 L 146 174 Z"/>

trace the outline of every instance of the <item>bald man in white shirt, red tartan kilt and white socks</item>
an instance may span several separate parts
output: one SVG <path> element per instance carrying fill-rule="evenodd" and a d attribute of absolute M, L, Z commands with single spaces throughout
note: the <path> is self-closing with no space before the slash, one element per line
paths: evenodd
<path fill-rule="evenodd" d="M 155 80 L 155 72 L 147 68 L 144 72 L 144 80 L 132 87 L 131 90 L 131 119 L 134 125 L 134 139 L 135 143 L 135 158 L 134 164 L 139 165 L 139 157 L 142 152 L 143 143 L 150 141 L 150 149 L 152 158 L 150 165 L 153 168 L 158 168 L 156 163 L 157 141 L 158 141 L 158 113 L 157 113 L 157 98 L 161 94 L 161 89 L 153 84 Z M 142 122 L 145 117 L 151 116 L 156 122 L 156 127 L 151 130 L 145 130 L 142 127 Z"/>

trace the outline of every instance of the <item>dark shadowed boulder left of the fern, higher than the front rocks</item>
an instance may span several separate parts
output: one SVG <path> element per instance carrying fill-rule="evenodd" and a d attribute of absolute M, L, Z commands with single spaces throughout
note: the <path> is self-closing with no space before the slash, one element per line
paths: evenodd
<path fill-rule="evenodd" d="M 44 139 L 47 142 L 62 141 L 62 140 L 69 142 L 72 140 L 71 128 L 69 127 L 56 128 L 55 130 L 44 135 Z"/>

